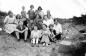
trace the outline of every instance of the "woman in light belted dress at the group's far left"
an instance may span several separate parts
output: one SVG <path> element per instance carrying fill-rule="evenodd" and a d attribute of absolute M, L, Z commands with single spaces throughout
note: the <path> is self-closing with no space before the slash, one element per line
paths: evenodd
<path fill-rule="evenodd" d="M 4 20 L 4 30 L 11 34 L 12 32 L 15 31 L 17 23 L 16 23 L 16 18 L 13 15 L 13 13 L 11 11 L 9 11 L 8 16 L 6 16 L 5 20 Z"/>

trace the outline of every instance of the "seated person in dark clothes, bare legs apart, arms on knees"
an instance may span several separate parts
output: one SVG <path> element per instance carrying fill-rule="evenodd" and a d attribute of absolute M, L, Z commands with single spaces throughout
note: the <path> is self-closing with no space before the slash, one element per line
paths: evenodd
<path fill-rule="evenodd" d="M 23 22 L 20 21 L 19 25 L 17 26 L 16 30 L 16 36 L 18 41 L 20 40 L 20 37 L 24 37 L 24 41 L 27 41 L 27 35 L 28 35 L 28 28 L 26 26 L 23 25 Z"/>

